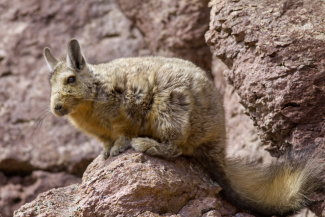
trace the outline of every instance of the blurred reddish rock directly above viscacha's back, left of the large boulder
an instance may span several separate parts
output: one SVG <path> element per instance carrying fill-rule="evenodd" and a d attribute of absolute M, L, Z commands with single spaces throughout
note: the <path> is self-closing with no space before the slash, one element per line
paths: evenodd
<path fill-rule="evenodd" d="M 208 0 L 116 0 L 141 30 L 155 55 L 191 60 L 211 71 L 211 53 L 204 41 L 208 30 Z"/>

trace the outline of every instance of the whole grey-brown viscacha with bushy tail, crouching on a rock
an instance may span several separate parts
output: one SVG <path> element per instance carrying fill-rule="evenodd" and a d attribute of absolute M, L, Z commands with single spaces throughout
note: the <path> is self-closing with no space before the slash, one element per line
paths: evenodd
<path fill-rule="evenodd" d="M 132 146 L 165 158 L 197 158 L 238 207 L 286 216 L 321 188 L 317 158 L 288 155 L 268 165 L 226 157 L 223 100 L 206 72 L 177 58 L 135 57 L 86 63 L 76 39 L 66 60 L 44 49 L 51 70 L 51 110 L 104 144 L 103 157 Z"/>

